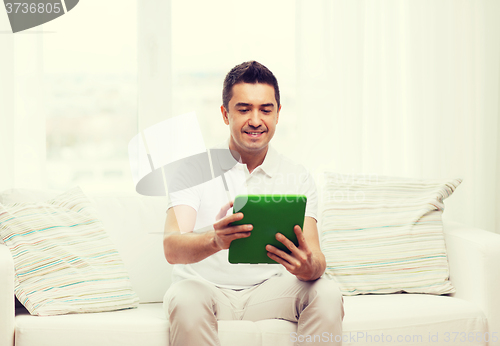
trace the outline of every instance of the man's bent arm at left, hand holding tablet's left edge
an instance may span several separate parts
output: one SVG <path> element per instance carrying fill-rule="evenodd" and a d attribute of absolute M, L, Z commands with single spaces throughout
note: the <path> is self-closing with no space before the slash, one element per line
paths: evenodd
<path fill-rule="evenodd" d="M 229 248 L 231 241 L 250 236 L 251 225 L 229 226 L 231 222 L 241 220 L 242 213 L 226 217 L 232 203 L 226 204 L 217 215 L 217 221 L 211 230 L 194 233 L 196 210 L 187 205 L 168 209 L 163 237 L 163 249 L 168 263 L 195 263 L 214 253 Z"/>

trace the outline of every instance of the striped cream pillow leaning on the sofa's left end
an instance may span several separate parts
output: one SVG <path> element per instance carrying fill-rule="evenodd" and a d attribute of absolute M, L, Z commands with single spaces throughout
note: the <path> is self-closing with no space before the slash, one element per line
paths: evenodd
<path fill-rule="evenodd" d="M 79 188 L 43 203 L 0 204 L 0 237 L 15 267 L 15 294 L 32 315 L 137 307 L 139 299 Z"/>

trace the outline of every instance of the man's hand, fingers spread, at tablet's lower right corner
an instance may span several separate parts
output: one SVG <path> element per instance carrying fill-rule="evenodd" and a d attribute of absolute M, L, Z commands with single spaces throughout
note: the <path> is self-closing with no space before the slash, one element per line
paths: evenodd
<path fill-rule="evenodd" d="M 291 253 L 287 254 L 272 245 L 267 245 L 267 255 L 269 258 L 282 264 L 286 270 L 295 275 L 299 280 L 316 280 L 325 270 L 324 256 L 319 249 L 319 244 L 315 248 L 311 249 L 300 226 L 296 225 L 293 231 L 297 236 L 299 243 L 298 247 L 283 234 L 277 233 L 276 239 L 285 245 Z"/>

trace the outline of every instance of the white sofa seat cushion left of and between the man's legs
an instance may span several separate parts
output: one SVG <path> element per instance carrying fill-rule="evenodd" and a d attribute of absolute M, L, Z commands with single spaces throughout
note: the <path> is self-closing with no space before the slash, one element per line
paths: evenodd
<path fill-rule="evenodd" d="M 223 346 L 261 345 L 259 328 L 250 321 L 221 321 Z M 59 316 L 16 316 L 17 346 L 168 346 L 168 321 L 161 303 L 137 309 Z"/>

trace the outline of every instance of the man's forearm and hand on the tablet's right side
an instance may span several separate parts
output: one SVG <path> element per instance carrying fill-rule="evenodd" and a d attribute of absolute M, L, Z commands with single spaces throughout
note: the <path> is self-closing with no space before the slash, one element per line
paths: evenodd
<path fill-rule="evenodd" d="M 304 232 L 299 226 L 294 227 L 299 246 L 287 239 L 283 234 L 277 233 L 276 239 L 283 243 L 290 251 L 287 254 L 272 245 L 267 245 L 268 256 L 281 263 L 286 270 L 295 275 L 299 280 L 312 281 L 318 279 L 325 271 L 326 260 L 319 245 L 318 227 L 316 220 L 306 216 Z"/>

